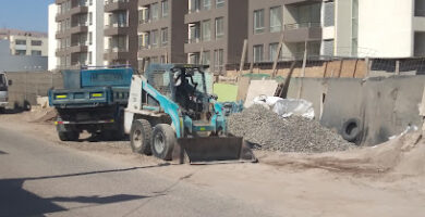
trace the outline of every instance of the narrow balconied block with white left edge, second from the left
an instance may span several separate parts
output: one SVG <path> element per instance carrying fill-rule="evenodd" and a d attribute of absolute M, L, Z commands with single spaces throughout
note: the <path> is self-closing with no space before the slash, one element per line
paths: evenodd
<path fill-rule="evenodd" d="M 105 1 L 105 65 L 137 68 L 137 0 Z"/>

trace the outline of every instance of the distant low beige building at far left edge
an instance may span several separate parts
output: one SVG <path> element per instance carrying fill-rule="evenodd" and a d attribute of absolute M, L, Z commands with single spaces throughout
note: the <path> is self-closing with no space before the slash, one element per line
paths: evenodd
<path fill-rule="evenodd" d="M 0 39 L 10 41 L 12 55 L 47 56 L 47 34 L 19 29 L 0 29 Z"/>

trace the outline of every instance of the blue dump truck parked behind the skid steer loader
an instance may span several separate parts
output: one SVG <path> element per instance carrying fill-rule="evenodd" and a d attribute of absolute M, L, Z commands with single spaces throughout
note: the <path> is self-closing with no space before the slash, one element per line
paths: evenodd
<path fill-rule="evenodd" d="M 133 69 L 110 66 L 63 71 L 62 75 L 64 89 L 49 90 L 49 104 L 58 112 L 59 139 L 76 141 L 84 130 L 95 138 L 122 139 Z"/>

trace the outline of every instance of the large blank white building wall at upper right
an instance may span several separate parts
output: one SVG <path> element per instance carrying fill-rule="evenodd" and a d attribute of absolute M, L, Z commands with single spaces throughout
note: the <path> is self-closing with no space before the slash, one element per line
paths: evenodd
<path fill-rule="evenodd" d="M 359 0 L 360 50 L 372 50 L 372 58 L 412 56 L 413 9 L 414 0 Z"/>

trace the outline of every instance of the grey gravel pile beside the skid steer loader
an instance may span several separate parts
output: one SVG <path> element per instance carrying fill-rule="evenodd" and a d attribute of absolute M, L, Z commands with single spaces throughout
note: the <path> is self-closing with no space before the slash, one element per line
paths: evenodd
<path fill-rule="evenodd" d="M 320 153 L 344 151 L 352 144 L 318 122 L 282 118 L 262 105 L 253 105 L 228 119 L 229 132 L 267 151 Z"/>

